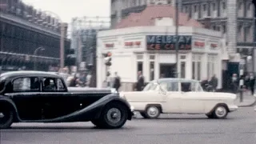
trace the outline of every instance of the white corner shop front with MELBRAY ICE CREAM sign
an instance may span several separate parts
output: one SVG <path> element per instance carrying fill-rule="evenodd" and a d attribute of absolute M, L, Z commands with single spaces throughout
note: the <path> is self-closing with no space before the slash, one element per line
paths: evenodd
<path fill-rule="evenodd" d="M 168 30 L 166 30 L 166 28 Z M 168 31 L 166 33 L 166 31 Z M 176 78 L 176 50 L 178 41 L 178 78 L 218 78 L 222 87 L 222 34 L 213 30 L 181 26 L 174 35 L 173 26 L 143 26 L 101 31 L 98 34 L 97 86 L 118 72 L 122 90 L 132 90 L 138 71 L 146 82 L 158 78 Z M 103 54 L 111 52 L 112 65 L 106 69 Z"/>

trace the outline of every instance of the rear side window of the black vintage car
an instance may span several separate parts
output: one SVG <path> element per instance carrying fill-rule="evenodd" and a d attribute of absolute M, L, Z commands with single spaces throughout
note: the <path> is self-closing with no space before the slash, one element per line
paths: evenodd
<path fill-rule="evenodd" d="M 17 78 L 13 82 L 14 92 L 36 92 L 40 90 L 38 78 Z"/>

